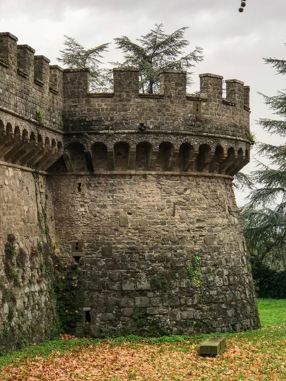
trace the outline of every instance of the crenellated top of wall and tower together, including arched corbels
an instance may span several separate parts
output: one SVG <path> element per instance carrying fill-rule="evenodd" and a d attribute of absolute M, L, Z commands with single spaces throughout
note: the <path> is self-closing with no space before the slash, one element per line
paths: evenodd
<path fill-rule="evenodd" d="M 130 162 L 123 165 L 125 170 L 136 168 L 136 147 L 140 142 L 146 142 L 151 147 L 146 151 L 147 156 L 153 157 L 145 165 L 145 170 L 149 171 L 152 168 L 184 170 L 182 168 L 186 165 L 178 162 L 178 157 L 182 156 L 182 144 L 192 147 L 188 148 L 186 155 L 193 157 L 190 159 L 193 164 L 188 165 L 193 171 L 199 171 L 198 168 L 202 167 L 197 164 L 200 158 L 205 160 L 207 157 L 209 162 L 221 163 L 211 165 L 210 172 L 225 174 L 235 173 L 233 168 L 240 169 L 249 161 L 249 86 L 244 86 L 243 82 L 226 80 L 226 98 L 223 98 L 223 77 L 200 74 L 199 93 L 187 94 L 186 71 L 163 70 L 159 94 L 142 94 L 139 93 L 138 69 L 117 67 L 113 69 L 112 93 L 90 93 L 88 68 L 62 69 L 58 65 L 50 65 L 47 57 L 35 55 L 31 46 L 19 45 L 17 41 L 8 32 L 0 33 L 0 112 L 5 115 L 10 112 L 12 119 L 8 118 L 7 123 L 13 126 L 13 136 L 5 141 L 4 146 L 2 144 L 3 152 L 13 152 L 21 144 L 17 141 L 18 135 L 15 135 L 16 127 L 23 125 L 24 130 L 29 130 L 24 124 L 31 126 L 32 123 L 32 130 L 36 130 L 33 133 L 39 136 L 54 131 L 55 136 L 51 139 L 63 147 L 66 168 L 71 171 L 77 167 L 71 162 L 72 149 L 69 148 L 74 143 L 84 147 L 86 163 L 81 167 L 95 170 L 92 162 L 96 166 L 93 160 L 96 154 L 89 144 L 92 141 L 101 142 L 109 152 L 108 164 L 101 165 L 106 170 L 117 167 L 114 154 L 117 141 L 130 147 L 126 159 Z M 7 131 L 5 120 L 2 116 L 4 132 Z M 72 140 L 70 136 L 73 136 Z M 160 154 L 165 155 L 162 147 L 159 148 L 160 142 L 164 141 L 172 146 L 169 152 L 172 165 L 160 166 L 156 160 L 161 160 Z M 35 150 L 34 144 L 32 139 L 29 143 L 32 150 Z M 41 141 L 38 146 L 39 152 L 43 153 Z M 27 144 L 25 147 L 27 150 Z M 230 154 L 230 148 L 233 154 Z M 199 156 L 199 152 L 204 150 L 205 154 Z M 60 154 L 61 150 L 57 150 L 51 153 L 51 157 L 56 160 Z M 15 164 L 25 162 L 24 159 L 14 160 L 17 155 L 8 153 L 1 157 L 2 160 L 9 157 L 7 160 Z M 223 160 L 230 162 L 230 157 L 237 165 L 222 165 Z M 28 160 L 25 163 L 29 166 L 31 162 Z M 42 169 L 48 168 L 40 160 L 33 164 Z M 206 167 L 208 171 L 209 165 L 204 165 L 204 171 Z M 226 171 L 227 167 L 231 170 Z"/>

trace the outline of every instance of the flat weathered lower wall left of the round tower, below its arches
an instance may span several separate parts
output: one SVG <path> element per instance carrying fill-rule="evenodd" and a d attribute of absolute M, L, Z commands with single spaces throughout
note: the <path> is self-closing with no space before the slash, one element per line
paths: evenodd
<path fill-rule="evenodd" d="M 39 250 L 38 221 L 38 213 L 46 210 L 52 235 L 53 209 L 45 177 L 34 178 L 27 170 L 0 165 L 1 352 L 43 341 L 53 333 L 54 298 Z"/>

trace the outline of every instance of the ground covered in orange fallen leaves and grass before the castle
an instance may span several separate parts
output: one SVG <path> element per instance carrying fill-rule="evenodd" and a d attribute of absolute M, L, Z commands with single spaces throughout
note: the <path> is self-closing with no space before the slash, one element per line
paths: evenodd
<path fill-rule="evenodd" d="M 59 340 L 0 357 L 5 381 L 285 380 L 286 300 L 259 300 L 262 328 L 226 335 L 227 350 L 200 357 L 208 336 Z"/>

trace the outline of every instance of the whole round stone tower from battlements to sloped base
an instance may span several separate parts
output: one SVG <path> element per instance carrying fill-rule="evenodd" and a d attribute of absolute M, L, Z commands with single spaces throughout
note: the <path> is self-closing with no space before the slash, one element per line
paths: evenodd
<path fill-rule="evenodd" d="M 57 69 L 58 70 L 58 69 Z M 76 334 L 162 335 L 257 328 L 233 175 L 249 162 L 249 87 L 164 71 L 160 94 L 136 69 L 114 93 L 64 70 L 64 154 L 51 166 L 55 231 L 80 284 Z"/>

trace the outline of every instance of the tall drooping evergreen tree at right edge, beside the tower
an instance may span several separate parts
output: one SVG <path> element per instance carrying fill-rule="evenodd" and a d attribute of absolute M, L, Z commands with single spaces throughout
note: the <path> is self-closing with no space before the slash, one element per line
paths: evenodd
<path fill-rule="evenodd" d="M 286 74 L 286 60 L 264 58 L 278 74 Z M 258 123 L 270 134 L 286 137 L 286 93 L 278 91 L 264 97 L 265 104 L 276 118 L 260 118 Z M 241 219 L 252 263 L 264 263 L 273 268 L 280 263 L 286 270 L 286 145 L 259 143 L 258 153 L 268 159 L 269 165 L 259 163 L 251 174 L 257 183 L 244 208 Z M 278 262 L 277 262 L 278 261 Z M 281 266 L 282 267 L 282 266 Z"/>

